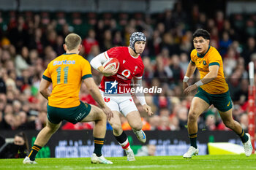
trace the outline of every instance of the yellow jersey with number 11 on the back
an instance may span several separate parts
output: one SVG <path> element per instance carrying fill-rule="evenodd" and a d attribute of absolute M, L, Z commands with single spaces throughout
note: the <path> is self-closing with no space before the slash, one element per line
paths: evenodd
<path fill-rule="evenodd" d="M 78 107 L 81 82 L 88 77 L 92 77 L 90 63 L 78 54 L 63 54 L 50 61 L 42 76 L 53 83 L 48 105 L 59 108 Z"/>

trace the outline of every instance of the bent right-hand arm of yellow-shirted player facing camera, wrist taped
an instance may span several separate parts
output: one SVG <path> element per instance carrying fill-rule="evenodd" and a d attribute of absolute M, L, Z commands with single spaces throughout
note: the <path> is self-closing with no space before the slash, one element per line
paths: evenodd
<path fill-rule="evenodd" d="M 206 74 L 205 77 L 203 77 L 203 79 L 199 80 L 198 82 L 195 82 L 194 85 L 190 85 L 188 88 L 184 90 L 185 94 L 189 94 L 192 90 L 195 90 L 197 87 L 201 85 L 206 85 L 207 83 L 217 78 L 219 72 L 219 65 L 209 66 L 208 69 L 209 72 L 208 74 Z"/>

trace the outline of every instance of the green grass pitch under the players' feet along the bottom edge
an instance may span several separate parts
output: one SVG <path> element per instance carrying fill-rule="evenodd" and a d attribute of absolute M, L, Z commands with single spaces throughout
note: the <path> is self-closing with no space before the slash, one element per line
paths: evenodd
<path fill-rule="evenodd" d="M 128 162 L 125 157 L 108 158 L 112 165 L 91 164 L 90 158 L 39 158 L 38 164 L 23 165 L 23 159 L 0 159 L 0 169 L 256 169 L 256 155 L 197 155 L 192 159 L 182 156 L 147 156 L 136 157 L 136 161 Z"/>

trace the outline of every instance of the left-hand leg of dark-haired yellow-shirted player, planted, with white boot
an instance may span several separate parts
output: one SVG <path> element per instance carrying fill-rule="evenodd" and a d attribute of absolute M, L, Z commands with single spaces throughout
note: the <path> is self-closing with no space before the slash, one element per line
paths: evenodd
<path fill-rule="evenodd" d="M 189 132 L 190 147 L 189 150 L 183 155 L 184 158 L 191 158 L 192 155 L 198 154 L 197 149 L 197 118 L 206 110 L 210 105 L 208 102 L 199 97 L 194 97 L 189 109 L 187 120 L 187 130 Z"/>

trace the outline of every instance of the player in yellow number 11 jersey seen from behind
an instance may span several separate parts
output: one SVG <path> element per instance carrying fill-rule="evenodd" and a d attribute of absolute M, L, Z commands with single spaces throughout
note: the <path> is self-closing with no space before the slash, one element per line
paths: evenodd
<path fill-rule="evenodd" d="M 45 146 L 50 137 L 59 129 L 62 120 L 73 124 L 94 121 L 94 153 L 91 163 L 112 164 L 102 155 L 102 146 L 106 133 L 107 118 L 113 117 L 113 112 L 106 106 L 99 88 L 91 76 L 91 66 L 80 52 L 81 38 L 78 34 L 69 34 L 65 38 L 65 54 L 50 61 L 40 82 L 39 92 L 48 99 L 48 122 L 37 135 L 29 156 L 23 163 L 33 164 L 37 152 Z M 91 96 L 102 109 L 79 100 L 81 83 L 85 83 Z M 48 89 L 53 84 L 53 90 Z"/>

